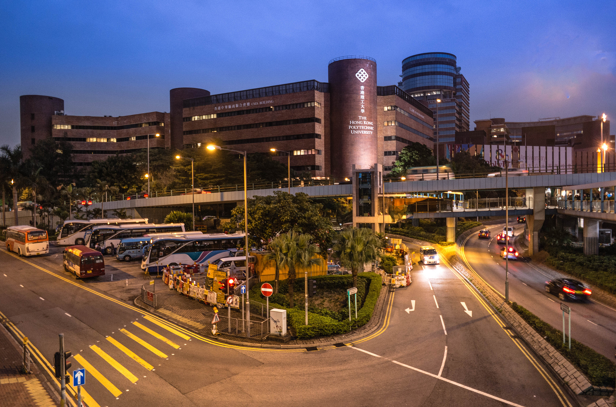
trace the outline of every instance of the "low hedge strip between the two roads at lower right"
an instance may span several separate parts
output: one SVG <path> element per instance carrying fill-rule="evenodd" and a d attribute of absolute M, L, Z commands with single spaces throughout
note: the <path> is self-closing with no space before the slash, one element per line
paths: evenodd
<path fill-rule="evenodd" d="M 571 339 L 569 350 L 569 338 L 567 344 L 562 343 L 562 331 L 553 328 L 550 324 L 540 320 L 536 315 L 515 302 L 511 305 L 530 326 L 543 336 L 550 345 L 561 353 L 573 366 L 580 369 L 588 377 L 593 386 L 614 386 L 614 369 L 616 365 L 608 358 L 596 352 L 590 347 L 580 344 Z"/>

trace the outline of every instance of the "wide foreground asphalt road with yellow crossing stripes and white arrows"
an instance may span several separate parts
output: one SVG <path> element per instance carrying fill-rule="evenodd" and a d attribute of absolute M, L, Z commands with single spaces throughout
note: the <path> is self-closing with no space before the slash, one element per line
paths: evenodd
<path fill-rule="evenodd" d="M 65 334 L 65 349 L 78 355 L 71 370 L 87 370 L 88 407 L 572 405 L 445 265 L 416 268 L 410 287 L 388 294 L 383 326 L 370 337 L 309 352 L 211 341 L 116 296 L 121 284 L 142 283 L 134 276 L 75 280 L 57 257 L 0 251 L 0 316 L 47 368 Z"/>

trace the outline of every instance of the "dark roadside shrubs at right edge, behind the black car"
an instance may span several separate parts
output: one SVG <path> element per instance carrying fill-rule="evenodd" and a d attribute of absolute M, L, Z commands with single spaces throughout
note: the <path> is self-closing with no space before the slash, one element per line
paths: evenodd
<path fill-rule="evenodd" d="M 546 264 L 616 294 L 616 256 L 584 256 L 567 248 L 548 248 Z"/>

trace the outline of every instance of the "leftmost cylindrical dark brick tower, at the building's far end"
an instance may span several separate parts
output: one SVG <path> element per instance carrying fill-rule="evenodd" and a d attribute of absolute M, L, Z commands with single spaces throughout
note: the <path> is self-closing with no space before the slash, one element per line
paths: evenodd
<path fill-rule="evenodd" d="M 30 148 L 38 140 L 51 137 L 51 116 L 64 113 L 64 100 L 44 95 L 22 95 L 19 97 L 19 117 L 22 133 L 22 151 L 30 156 Z"/>

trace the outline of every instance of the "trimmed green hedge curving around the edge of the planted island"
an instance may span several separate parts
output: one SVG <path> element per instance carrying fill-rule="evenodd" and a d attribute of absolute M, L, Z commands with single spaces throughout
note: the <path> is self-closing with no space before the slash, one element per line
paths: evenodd
<path fill-rule="evenodd" d="M 352 318 L 352 321 L 349 321 L 348 319 L 339 321 L 332 318 L 336 316 L 339 318 L 342 311 L 336 313 L 331 310 L 321 310 L 321 312 L 316 313 L 309 310 L 308 324 L 305 325 L 306 315 L 303 308 L 304 304 L 298 305 L 298 308 L 288 308 L 288 304 L 286 304 L 287 307 L 285 307 L 285 304 L 278 304 L 277 302 L 270 300 L 270 305 L 275 308 L 286 310 L 286 320 L 291 326 L 293 326 L 293 329 L 299 339 L 308 339 L 315 336 L 329 336 L 349 332 L 351 329 L 358 328 L 359 326 L 362 326 L 370 321 L 381 292 L 380 275 L 376 273 L 359 273 L 357 276 L 359 277 L 357 281 L 357 306 L 359 308 L 362 299 L 363 306 L 357 310 L 357 319 Z M 347 289 L 352 285 L 351 275 L 315 276 L 312 277 L 311 280 L 317 280 L 317 289 Z M 279 281 L 278 291 L 280 292 L 285 292 L 282 290 L 283 283 L 285 284 L 285 288 L 288 287 L 288 285 L 286 285 L 288 284 L 288 281 Z M 294 289 L 303 291 L 303 284 L 304 282 L 302 280 L 301 286 L 298 287 L 298 281 L 296 281 L 296 286 L 294 286 Z M 261 296 L 260 286 L 254 286 L 250 293 L 252 300 L 265 303 L 264 297 Z M 282 294 L 278 295 L 283 299 L 285 298 Z M 272 297 L 270 297 L 270 299 L 273 299 Z M 280 300 L 280 297 L 276 297 L 276 299 Z M 348 311 L 348 308 L 344 310 L 346 315 L 348 315 Z"/>

